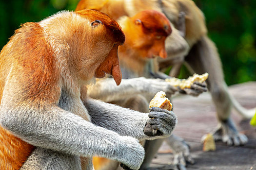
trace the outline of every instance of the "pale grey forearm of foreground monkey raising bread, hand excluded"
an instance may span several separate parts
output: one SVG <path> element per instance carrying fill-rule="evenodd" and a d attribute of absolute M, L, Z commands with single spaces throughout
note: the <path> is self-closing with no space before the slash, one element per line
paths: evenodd
<path fill-rule="evenodd" d="M 148 113 L 141 113 L 94 99 L 87 99 L 84 104 L 92 122 L 98 126 L 115 131 L 122 136 L 133 136 L 139 140 L 156 138 L 143 133 L 149 119 Z"/>

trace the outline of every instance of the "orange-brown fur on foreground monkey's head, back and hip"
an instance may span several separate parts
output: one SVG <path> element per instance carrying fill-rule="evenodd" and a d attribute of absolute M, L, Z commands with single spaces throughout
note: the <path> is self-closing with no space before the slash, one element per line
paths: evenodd
<path fill-rule="evenodd" d="M 19 86 L 17 89 L 22 89 L 9 94 L 20 97 L 14 104 L 28 108 L 35 107 L 36 109 L 41 109 L 44 105 L 58 104 L 61 92 L 59 84 L 61 82 L 65 84 L 65 81 L 69 81 L 68 84 L 71 85 L 71 88 L 76 90 L 80 82 L 89 81 L 97 71 L 102 71 L 113 73 L 117 84 L 120 83 L 121 73 L 118 72 L 120 68 L 117 47 L 124 42 L 124 34 L 116 21 L 93 10 L 83 10 L 76 13 L 66 12 L 64 15 L 62 14 L 63 18 L 58 18 L 54 23 L 48 24 L 48 31 L 50 30 L 54 34 L 55 31 L 58 31 L 56 30 L 58 22 L 68 25 L 67 22 L 71 22 L 68 17 L 75 14 L 86 18 L 84 22 L 87 24 L 87 20 L 92 22 L 99 19 L 102 21 L 104 27 L 102 26 L 98 32 L 93 32 L 93 36 L 90 37 L 95 38 L 95 41 L 93 41 L 94 39 L 84 41 L 83 34 L 87 30 L 85 30 L 84 23 L 79 19 L 76 22 L 77 25 L 72 25 L 74 23 L 72 20 L 70 27 L 61 30 L 63 32 L 56 33 L 59 37 L 65 38 L 64 42 L 69 44 L 68 47 L 66 44 L 57 42 L 59 39 L 54 39 L 52 36 L 46 37 L 45 30 L 39 23 L 25 23 L 15 31 L 15 34 L 0 53 L 0 101 L 3 97 L 4 88 L 7 86 L 8 89 L 8 85 L 10 86 L 12 83 L 8 82 L 10 77 L 16 81 L 14 85 Z M 96 44 L 98 39 L 104 40 L 104 44 Z M 53 48 L 55 43 L 58 43 L 59 49 Z M 112 50 L 114 44 L 117 45 Z M 93 53 L 98 47 L 101 48 L 99 52 Z M 85 54 L 89 54 L 86 59 L 84 59 Z M 56 55 L 59 56 L 56 57 Z M 64 55 L 68 55 L 68 61 L 65 59 L 67 56 Z M 102 63 L 104 63 L 103 66 Z M 68 75 L 62 75 L 65 70 L 72 72 Z M 76 82 L 74 82 L 75 80 Z M 84 94 L 85 96 L 86 94 Z M 0 126 L 0 170 L 19 170 L 33 149 L 34 146 Z"/>

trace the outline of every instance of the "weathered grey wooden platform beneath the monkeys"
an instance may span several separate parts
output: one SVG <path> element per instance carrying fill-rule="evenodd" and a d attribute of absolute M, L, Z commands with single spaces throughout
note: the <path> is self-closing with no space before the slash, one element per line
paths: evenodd
<path fill-rule="evenodd" d="M 229 91 L 245 108 L 256 107 L 256 82 L 232 85 Z M 249 138 L 246 145 L 234 147 L 217 142 L 215 152 L 202 152 L 201 137 L 217 126 L 215 107 L 210 94 L 204 93 L 196 98 L 182 96 L 172 102 L 178 117 L 174 134 L 187 141 L 195 159 L 195 164 L 188 165 L 187 170 L 256 170 L 256 127 L 250 126 L 249 120 L 242 120 L 235 110 L 232 111 L 232 119 L 235 120 L 237 128 Z M 170 170 L 157 167 L 171 164 L 171 152 L 164 143 L 152 161 L 152 169 Z"/>

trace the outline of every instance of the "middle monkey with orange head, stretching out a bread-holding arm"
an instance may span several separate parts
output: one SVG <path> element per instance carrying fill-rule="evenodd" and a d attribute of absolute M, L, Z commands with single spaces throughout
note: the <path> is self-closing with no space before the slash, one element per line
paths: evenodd
<path fill-rule="evenodd" d="M 169 34 L 171 34 L 170 22 L 167 17 L 155 10 L 145 10 L 139 12 L 133 17 L 121 17 L 118 22 L 126 36 L 124 44 L 120 46 L 118 50 L 120 67 L 124 78 L 123 81 L 127 81 L 126 79 L 138 81 L 137 84 L 138 86 L 141 86 L 140 89 L 143 89 L 145 92 L 148 91 L 148 94 L 139 92 L 134 93 L 131 96 L 120 94 L 119 99 L 109 95 L 109 98 L 106 99 L 105 97 L 108 95 L 104 95 L 106 94 L 104 91 L 113 90 L 116 86 L 111 83 L 107 83 L 107 80 L 105 79 L 102 81 L 99 80 L 96 86 L 88 89 L 89 96 L 94 98 L 99 97 L 105 101 L 112 102 L 133 110 L 148 112 L 148 103 L 154 96 L 154 94 L 151 94 L 151 91 L 155 91 L 153 88 L 156 88 L 154 86 L 158 86 L 160 90 L 167 89 L 167 86 L 164 84 L 166 82 L 153 79 L 155 76 L 152 75 L 149 70 L 152 70 L 154 68 L 153 65 L 157 64 L 157 60 L 153 60 L 153 58 L 156 56 L 160 56 L 162 58 L 167 57 L 165 51 L 165 39 Z M 148 79 L 138 78 L 139 76 L 144 76 Z M 100 86 L 102 86 L 104 90 L 102 90 Z M 123 85 L 121 84 L 120 87 L 121 86 Z M 204 85 L 195 84 L 192 86 L 193 87 L 191 89 L 185 89 L 190 90 L 189 94 L 192 94 L 193 92 L 194 95 L 198 95 L 206 90 Z M 170 85 L 169 87 L 170 90 L 167 89 L 169 94 L 171 94 L 172 90 L 173 93 L 177 91 L 177 89 L 175 90 L 175 87 L 171 87 Z M 117 88 L 112 91 L 115 96 L 117 94 L 114 91 L 117 90 Z M 100 92 L 98 91 L 99 89 L 102 90 L 102 94 L 101 90 Z M 169 140 L 172 140 L 173 138 L 174 136 Z M 155 141 L 153 143 L 158 144 L 161 142 L 162 140 L 158 142 Z M 156 152 L 154 146 L 147 148 L 146 152 L 148 150 L 153 150 L 154 153 Z M 152 155 L 154 156 L 154 154 Z M 146 154 L 146 159 L 144 160 L 146 162 L 145 165 L 148 165 L 151 159 L 151 154 Z M 94 158 L 94 165 L 96 170 L 114 170 L 118 167 L 118 162 L 107 161 L 102 158 Z M 145 168 L 145 165 L 143 164 L 141 169 Z"/>

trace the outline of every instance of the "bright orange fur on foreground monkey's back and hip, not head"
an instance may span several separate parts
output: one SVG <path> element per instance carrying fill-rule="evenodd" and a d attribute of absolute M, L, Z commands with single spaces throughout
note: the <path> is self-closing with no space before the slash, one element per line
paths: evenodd
<path fill-rule="evenodd" d="M 10 46 L 12 46 L 12 48 L 10 48 Z M 7 56 L 10 57 L 10 55 L 12 55 L 12 58 L 10 58 L 12 61 L 8 61 Z M 38 56 L 44 57 L 40 60 L 36 60 Z M 52 79 L 52 77 L 48 75 L 48 72 L 54 72 L 51 67 L 54 61 L 51 52 L 47 49 L 45 39 L 42 36 L 42 29 L 38 23 L 26 23 L 22 25 L 22 27 L 15 32 L 15 35 L 11 37 L 0 54 L 0 72 L 5 72 L 5 69 L 10 69 L 7 67 L 7 64 L 11 62 L 13 68 L 17 69 L 16 71 L 19 72 L 20 68 L 25 68 L 26 72 L 24 74 L 33 73 L 34 75 L 33 80 L 23 80 L 34 82 L 30 84 L 31 87 L 24 86 L 24 88 L 31 89 L 27 91 L 26 97 L 31 98 L 31 100 L 47 100 L 47 96 L 50 95 L 49 92 L 52 91 L 50 90 L 50 88 L 52 88 L 51 84 L 56 83 L 57 76 Z M 40 69 L 42 67 L 44 67 L 45 70 Z M 1 76 L 0 86 L 2 89 L 7 75 L 8 74 L 3 77 Z M 48 82 L 48 84 L 43 82 Z M 20 82 L 20 85 L 25 84 Z M 41 90 L 45 91 L 40 92 Z M 0 93 L 0 97 L 1 96 L 2 91 Z M 55 96 L 55 99 L 56 97 L 57 96 Z M 51 101 L 52 99 L 48 100 Z M 34 146 L 22 141 L 2 127 L 0 127 L 0 134 L 0 169 L 19 170 L 29 154 L 33 151 Z"/>

